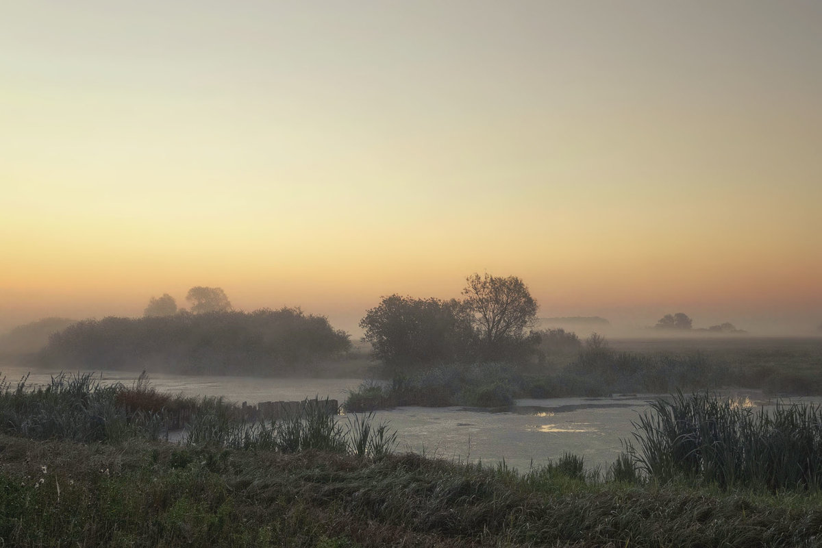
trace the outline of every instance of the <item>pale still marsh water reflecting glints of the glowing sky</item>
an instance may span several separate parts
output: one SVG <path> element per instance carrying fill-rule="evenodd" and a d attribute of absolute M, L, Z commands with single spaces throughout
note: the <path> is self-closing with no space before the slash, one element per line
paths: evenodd
<path fill-rule="evenodd" d="M 3 366 L 0 374 L 12 386 L 30 370 Z M 46 384 L 58 371 L 31 371 L 27 385 Z M 137 374 L 130 371 L 96 371 L 109 384 L 131 385 Z M 223 396 L 242 403 L 331 398 L 342 403 L 358 379 L 272 379 L 230 376 L 187 376 L 155 373 L 151 385 L 159 391 L 187 396 Z M 454 460 L 482 460 L 525 471 L 547 463 L 565 452 L 584 457 L 586 467 L 604 471 L 621 452 L 621 440 L 632 439 L 638 413 L 653 395 L 617 398 L 520 399 L 506 412 L 469 408 L 397 408 L 376 412 L 376 421 L 388 421 L 397 431 L 399 451 Z M 340 420 L 345 420 L 340 417 Z"/>

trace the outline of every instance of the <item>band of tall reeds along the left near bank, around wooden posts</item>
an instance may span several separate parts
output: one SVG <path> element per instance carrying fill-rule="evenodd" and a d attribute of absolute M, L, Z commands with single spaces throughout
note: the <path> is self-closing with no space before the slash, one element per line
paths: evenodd
<path fill-rule="evenodd" d="M 169 427 L 184 426 L 187 446 L 271 449 L 298 453 L 317 449 L 381 458 L 396 446 L 396 432 L 373 416 L 349 416 L 346 423 L 326 412 L 327 399 L 306 399 L 299 412 L 277 421 L 247 421 L 223 398 L 182 398 L 157 392 L 146 375 L 127 387 L 104 385 L 93 374 L 56 375 L 30 389 L 0 378 L 0 433 L 36 440 L 159 440 Z M 185 417 L 184 424 L 178 424 Z"/>

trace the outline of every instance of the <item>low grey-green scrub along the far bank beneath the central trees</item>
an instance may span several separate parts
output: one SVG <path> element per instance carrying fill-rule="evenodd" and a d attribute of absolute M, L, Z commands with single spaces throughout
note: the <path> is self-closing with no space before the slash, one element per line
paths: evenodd
<path fill-rule="evenodd" d="M 502 363 L 435 366 L 410 375 L 395 373 L 389 383 L 364 383 L 349 394 L 345 407 L 358 411 L 402 405 L 503 408 L 513 405 L 514 398 L 596 398 L 718 388 L 729 375 L 727 367 L 712 364 L 704 354 L 615 352 L 603 338 L 594 337 L 559 371 Z"/>

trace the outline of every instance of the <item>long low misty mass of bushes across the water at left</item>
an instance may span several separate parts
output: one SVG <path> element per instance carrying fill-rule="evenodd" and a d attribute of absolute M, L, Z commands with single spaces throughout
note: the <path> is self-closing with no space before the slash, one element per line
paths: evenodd
<path fill-rule="evenodd" d="M 78 322 L 54 334 L 39 361 L 62 368 L 279 375 L 305 372 L 302 364 L 350 346 L 349 335 L 324 316 L 295 308 L 181 312 Z"/>

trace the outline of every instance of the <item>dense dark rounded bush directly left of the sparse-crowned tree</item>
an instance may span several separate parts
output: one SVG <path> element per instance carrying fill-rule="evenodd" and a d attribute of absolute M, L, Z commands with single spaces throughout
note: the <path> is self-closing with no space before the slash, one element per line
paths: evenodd
<path fill-rule="evenodd" d="M 391 295 L 366 312 L 360 327 L 374 355 L 388 366 L 461 361 L 473 334 L 469 316 L 455 299 Z"/>

